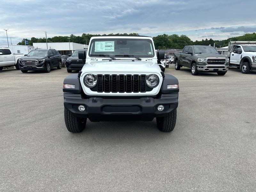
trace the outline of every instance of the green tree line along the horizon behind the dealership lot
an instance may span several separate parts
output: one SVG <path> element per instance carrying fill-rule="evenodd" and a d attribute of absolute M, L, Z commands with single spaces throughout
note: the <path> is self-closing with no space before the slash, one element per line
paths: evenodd
<path fill-rule="evenodd" d="M 57 42 L 68 42 L 68 38 L 70 38 L 70 42 L 80 43 L 80 44 L 89 44 L 89 41 L 92 36 L 138 36 L 138 33 L 117 33 L 117 34 L 104 34 L 104 35 L 93 35 L 93 34 L 85 34 L 83 33 L 82 36 L 54 36 L 47 38 L 48 43 L 57 43 Z M 33 45 L 33 43 L 46 43 L 45 38 L 36 38 L 31 37 L 31 39 L 23 39 L 18 45 L 25 45 L 25 40 L 28 40 L 28 45 Z M 210 38 L 209 40 L 202 39 L 201 41 L 191 41 L 191 39 L 186 35 L 158 35 L 153 37 L 154 44 L 156 49 L 183 49 L 186 45 L 209 45 L 213 46 L 215 43 L 215 47 L 225 47 L 228 46 L 228 42 L 230 41 L 256 41 L 256 33 L 248 33 L 244 34 L 243 36 L 231 37 L 226 40 L 213 40 Z"/>

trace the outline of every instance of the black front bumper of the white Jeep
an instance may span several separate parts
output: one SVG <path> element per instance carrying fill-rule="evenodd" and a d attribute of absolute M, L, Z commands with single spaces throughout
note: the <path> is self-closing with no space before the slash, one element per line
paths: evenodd
<path fill-rule="evenodd" d="M 178 94 L 161 94 L 155 98 L 84 98 L 82 94 L 64 93 L 64 107 L 78 117 L 87 117 L 92 122 L 98 121 L 152 121 L 154 117 L 166 116 L 178 107 Z M 84 105 L 83 112 L 78 110 Z M 164 105 L 158 111 L 158 105 Z"/>

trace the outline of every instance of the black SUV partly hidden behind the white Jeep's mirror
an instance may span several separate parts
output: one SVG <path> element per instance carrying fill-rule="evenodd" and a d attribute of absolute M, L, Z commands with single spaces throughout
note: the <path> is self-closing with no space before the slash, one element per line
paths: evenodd
<path fill-rule="evenodd" d="M 71 73 L 72 70 L 81 70 L 85 64 L 85 61 L 78 59 L 78 51 L 85 51 L 84 49 L 76 49 L 72 55 L 66 61 L 67 71 Z M 87 53 L 87 51 L 85 51 Z"/>

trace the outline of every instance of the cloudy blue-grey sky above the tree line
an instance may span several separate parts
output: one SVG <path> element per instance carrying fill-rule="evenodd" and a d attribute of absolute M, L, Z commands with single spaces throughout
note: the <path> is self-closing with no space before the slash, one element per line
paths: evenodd
<path fill-rule="evenodd" d="M 222 40 L 256 32 L 255 0 L 1 0 L 0 44 L 83 33 Z"/>

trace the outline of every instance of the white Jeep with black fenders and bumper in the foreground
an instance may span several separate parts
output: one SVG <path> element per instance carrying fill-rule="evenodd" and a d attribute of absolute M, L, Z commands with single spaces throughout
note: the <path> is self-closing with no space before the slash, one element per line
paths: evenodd
<path fill-rule="evenodd" d="M 64 119 L 69 132 L 99 121 L 152 121 L 170 132 L 176 123 L 179 82 L 164 74 L 153 39 L 146 36 L 92 37 L 78 52 L 86 63 L 64 79 Z"/>

